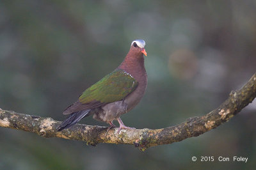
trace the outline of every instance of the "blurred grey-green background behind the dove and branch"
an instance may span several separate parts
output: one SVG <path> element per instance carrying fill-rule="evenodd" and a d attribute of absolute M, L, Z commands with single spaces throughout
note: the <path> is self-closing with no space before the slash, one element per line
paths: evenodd
<path fill-rule="evenodd" d="M 1 1 L 0 107 L 63 121 L 63 110 L 142 38 L 148 88 L 122 116 L 125 125 L 164 128 L 202 116 L 255 73 L 255 9 L 253 0 Z M 145 152 L 0 128 L 0 169 L 252 169 L 255 112 L 253 102 L 210 132 Z M 92 117 L 80 123 L 108 126 Z"/>

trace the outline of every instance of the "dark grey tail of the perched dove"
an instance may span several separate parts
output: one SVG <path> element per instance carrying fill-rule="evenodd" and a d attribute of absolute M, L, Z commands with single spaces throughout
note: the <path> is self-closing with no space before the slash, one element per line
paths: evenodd
<path fill-rule="evenodd" d="M 63 121 L 61 123 L 60 127 L 57 128 L 58 129 L 57 131 L 60 132 L 61 130 L 65 129 L 65 128 L 72 127 L 79 120 L 83 119 L 86 116 L 90 116 L 90 114 L 88 114 L 90 111 L 91 111 L 91 109 L 71 113 L 68 116 L 67 120 Z"/>

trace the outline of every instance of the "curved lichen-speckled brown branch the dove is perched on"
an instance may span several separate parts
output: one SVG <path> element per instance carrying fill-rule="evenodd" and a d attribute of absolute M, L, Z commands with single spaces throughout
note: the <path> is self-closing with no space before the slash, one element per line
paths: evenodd
<path fill-rule="evenodd" d="M 179 125 L 160 129 L 129 129 L 121 130 L 113 128 L 107 132 L 107 127 L 74 125 L 72 128 L 57 132 L 60 121 L 52 118 L 41 118 L 28 114 L 20 114 L 13 111 L 0 109 L 0 127 L 15 128 L 42 137 L 59 137 L 77 141 L 86 141 L 87 144 L 96 146 L 98 143 L 133 144 L 140 150 L 146 150 L 151 146 L 171 144 L 182 141 L 188 137 L 195 137 L 216 128 L 224 123 L 256 97 L 256 73 L 239 91 L 232 91 L 228 99 L 220 107 L 201 117 L 189 118 Z"/>

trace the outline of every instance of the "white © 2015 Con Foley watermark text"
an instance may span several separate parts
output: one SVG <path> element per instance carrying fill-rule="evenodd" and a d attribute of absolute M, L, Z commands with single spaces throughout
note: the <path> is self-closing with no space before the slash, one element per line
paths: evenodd
<path fill-rule="evenodd" d="M 248 162 L 248 157 L 192 157 L 191 158 L 193 162 L 200 161 L 200 162 Z"/>

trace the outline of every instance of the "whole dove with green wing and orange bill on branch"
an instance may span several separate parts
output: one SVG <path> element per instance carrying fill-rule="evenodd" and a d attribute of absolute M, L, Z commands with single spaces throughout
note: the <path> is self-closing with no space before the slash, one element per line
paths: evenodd
<path fill-rule="evenodd" d="M 93 119 L 104 121 L 110 128 L 119 123 L 118 133 L 126 127 L 120 116 L 131 111 L 145 94 L 147 72 L 144 65 L 147 56 L 144 40 L 134 40 L 124 61 L 111 73 L 83 91 L 79 99 L 68 106 L 63 114 L 68 117 L 57 131 L 72 127 L 81 119 L 93 115 Z"/>

